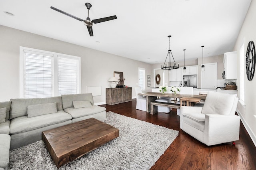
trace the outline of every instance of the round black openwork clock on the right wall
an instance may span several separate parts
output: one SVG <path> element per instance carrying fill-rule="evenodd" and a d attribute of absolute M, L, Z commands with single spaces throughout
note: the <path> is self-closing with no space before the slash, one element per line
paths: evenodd
<path fill-rule="evenodd" d="M 255 71 L 255 46 L 253 41 L 250 41 L 247 46 L 245 66 L 247 79 L 252 80 Z"/>

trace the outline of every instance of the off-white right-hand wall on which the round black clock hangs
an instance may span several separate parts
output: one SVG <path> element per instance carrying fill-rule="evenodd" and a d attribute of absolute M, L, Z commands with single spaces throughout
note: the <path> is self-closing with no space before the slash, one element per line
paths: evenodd
<path fill-rule="evenodd" d="M 256 18 L 256 0 L 252 0 L 250 4 L 250 8 L 247 12 L 246 18 L 244 20 L 244 23 L 242 25 L 242 28 L 240 30 L 240 33 L 238 35 L 238 38 L 236 40 L 236 43 L 234 45 L 234 51 L 238 51 L 238 59 L 237 59 L 237 65 L 238 65 L 238 90 L 240 86 L 240 69 L 239 69 L 239 50 L 240 46 L 242 45 L 242 42 L 245 40 L 244 43 L 244 55 L 246 55 L 246 49 L 248 42 L 254 41 L 254 44 L 256 44 L 256 24 L 255 24 L 255 18 Z M 245 63 L 245 62 L 244 62 Z M 246 69 L 244 69 L 246 70 Z M 254 74 L 254 78 L 252 81 L 248 81 L 246 74 L 244 74 L 244 81 L 245 81 L 245 105 L 246 109 L 241 105 L 240 102 L 238 102 L 238 111 L 239 115 L 241 117 L 241 120 L 250 134 L 252 140 L 254 141 L 254 144 L 256 146 L 256 73 Z M 239 97 L 239 91 L 238 91 L 238 97 Z"/>

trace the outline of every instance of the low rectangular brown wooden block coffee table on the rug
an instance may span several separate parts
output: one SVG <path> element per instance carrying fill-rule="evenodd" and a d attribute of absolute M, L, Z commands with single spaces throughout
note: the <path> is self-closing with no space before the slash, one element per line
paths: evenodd
<path fill-rule="evenodd" d="M 94 118 L 46 130 L 42 134 L 58 168 L 118 136 L 117 128 Z"/>

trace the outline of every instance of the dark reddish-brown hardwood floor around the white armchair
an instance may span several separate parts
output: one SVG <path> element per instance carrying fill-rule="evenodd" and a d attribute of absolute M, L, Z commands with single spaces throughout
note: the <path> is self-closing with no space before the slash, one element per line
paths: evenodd
<path fill-rule="evenodd" d="M 150 115 L 136 110 L 136 99 L 117 105 L 101 105 L 107 111 L 125 115 L 156 125 L 178 130 L 178 137 L 152 166 L 152 170 L 256 170 L 256 147 L 246 129 L 240 124 L 240 139 L 206 146 L 180 129 L 180 117 L 176 110 L 170 113 Z"/>

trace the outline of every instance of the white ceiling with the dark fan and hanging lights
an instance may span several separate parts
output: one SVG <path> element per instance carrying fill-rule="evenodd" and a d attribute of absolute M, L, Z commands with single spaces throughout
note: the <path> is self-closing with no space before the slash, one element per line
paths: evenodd
<path fill-rule="evenodd" d="M 50 9 L 54 6 L 86 19 L 116 15 L 93 25 Z M 171 35 L 176 61 L 232 51 L 251 0 L 0 0 L 0 25 L 105 51 L 146 63 L 163 63 Z M 4 11 L 14 14 L 9 16 Z"/>

